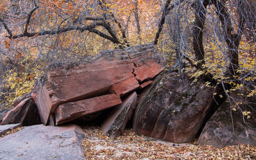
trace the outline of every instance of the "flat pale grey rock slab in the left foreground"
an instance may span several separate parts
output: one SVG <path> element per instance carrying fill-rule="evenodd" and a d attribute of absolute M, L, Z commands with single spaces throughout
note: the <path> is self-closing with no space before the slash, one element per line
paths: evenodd
<path fill-rule="evenodd" d="M 0 139 L 0 159 L 86 159 L 76 125 L 34 125 Z"/>

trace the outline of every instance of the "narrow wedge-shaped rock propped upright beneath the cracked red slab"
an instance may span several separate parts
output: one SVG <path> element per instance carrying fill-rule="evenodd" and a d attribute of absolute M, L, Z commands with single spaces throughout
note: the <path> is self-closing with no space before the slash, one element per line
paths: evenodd
<path fill-rule="evenodd" d="M 122 104 L 114 107 L 101 124 L 100 129 L 102 132 L 110 136 L 112 140 L 118 135 L 121 135 L 124 132 L 127 122 L 132 118 L 136 103 L 137 94 L 134 92 L 127 96 Z"/>

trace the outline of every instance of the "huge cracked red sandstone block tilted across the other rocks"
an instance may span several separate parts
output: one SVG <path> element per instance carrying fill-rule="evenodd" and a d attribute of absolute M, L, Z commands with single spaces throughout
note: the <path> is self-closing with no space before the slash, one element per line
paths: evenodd
<path fill-rule="evenodd" d="M 164 68 L 154 44 L 104 51 L 83 64 L 49 71 L 33 98 L 41 122 L 59 125 L 120 104 L 123 96 L 152 83 Z"/>

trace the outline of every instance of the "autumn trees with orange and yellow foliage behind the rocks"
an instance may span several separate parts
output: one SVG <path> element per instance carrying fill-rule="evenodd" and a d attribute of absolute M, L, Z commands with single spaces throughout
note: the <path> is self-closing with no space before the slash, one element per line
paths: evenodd
<path fill-rule="evenodd" d="M 50 67 L 155 43 L 169 70 L 220 86 L 231 109 L 249 118 L 242 106 L 256 92 L 255 6 L 253 0 L 4 0 L 1 117 Z"/>

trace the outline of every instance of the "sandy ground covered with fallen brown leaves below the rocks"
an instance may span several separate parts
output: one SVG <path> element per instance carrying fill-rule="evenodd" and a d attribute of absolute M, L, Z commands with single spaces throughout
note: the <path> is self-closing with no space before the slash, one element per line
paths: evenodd
<path fill-rule="evenodd" d="M 125 133 L 115 140 L 105 136 L 99 127 L 82 128 L 87 159 L 256 159 L 256 146 L 237 145 L 223 148 L 195 144 L 174 144 Z"/>

